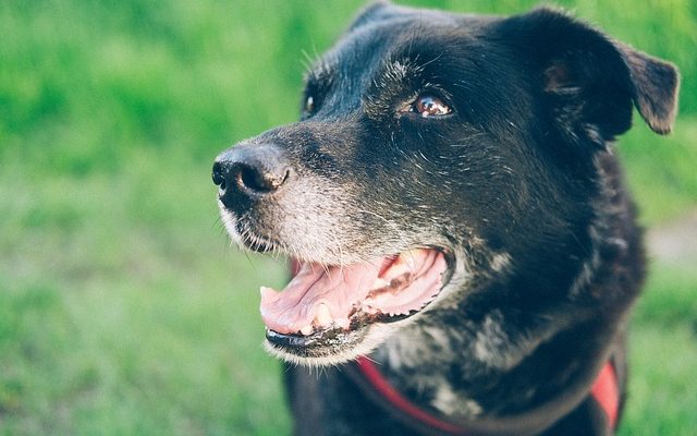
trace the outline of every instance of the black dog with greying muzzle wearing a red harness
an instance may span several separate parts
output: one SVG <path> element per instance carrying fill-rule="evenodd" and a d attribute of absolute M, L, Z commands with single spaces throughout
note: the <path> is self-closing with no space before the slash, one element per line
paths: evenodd
<path fill-rule="evenodd" d="M 301 435 L 600 435 L 644 277 L 614 138 L 678 75 L 564 13 L 383 2 L 308 73 L 299 122 L 222 153 L 223 221 L 290 255 L 261 289 Z M 369 358 L 366 358 L 369 356 Z"/>

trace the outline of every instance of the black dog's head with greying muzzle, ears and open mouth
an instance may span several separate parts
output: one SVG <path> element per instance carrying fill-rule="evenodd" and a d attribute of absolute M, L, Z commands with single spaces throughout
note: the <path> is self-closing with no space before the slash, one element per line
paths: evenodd
<path fill-rule="evenodd" d="M 262 288 L 269 348 L 337 363 L 488 283 L 536 271 L 529 298 L 568 289 L 589 252 L 595 157 L 633 105 L 667 133 L 677 82 L 552 10 L 369 7 L 308 72 L 301 121 L 213 166 L 232 238 L 296 265 L 285 290 Z"/>

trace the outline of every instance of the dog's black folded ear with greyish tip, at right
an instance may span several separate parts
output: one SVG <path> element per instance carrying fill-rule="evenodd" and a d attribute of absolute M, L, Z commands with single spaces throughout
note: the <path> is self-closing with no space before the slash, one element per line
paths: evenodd
<path fill-rule="evenodd" d="M 607 141 L 632 125 L 632 104 L 657 133 L 675 120 L 674 65 L 616 43 L 549 8 L 513 16 L 501 27 L 531 63 L 552 117 L 575 141 Z"/>

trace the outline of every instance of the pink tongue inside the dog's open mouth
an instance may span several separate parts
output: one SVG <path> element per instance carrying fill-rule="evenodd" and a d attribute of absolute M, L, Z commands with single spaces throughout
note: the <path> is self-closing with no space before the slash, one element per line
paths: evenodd
<path fill-rule="evenodd" d="M 261 319 L 280 334 L 296 334 L 325 303 L 331 317 L 347 328 L 354 304 L 366 298 L 380 269 L 380 261 L 343 267 L 305 263 L 281 292 L 261 288 Z"/>

